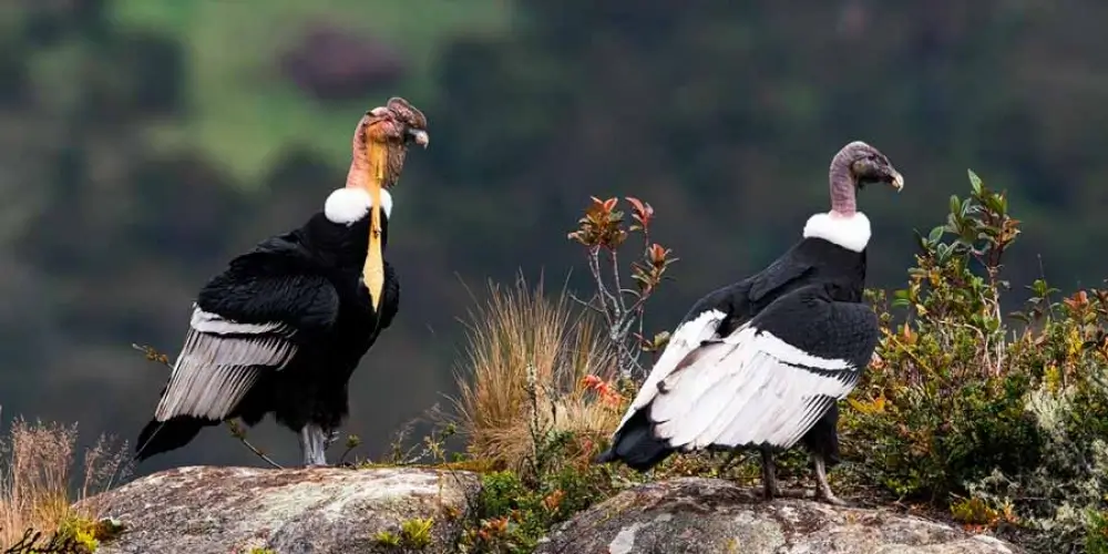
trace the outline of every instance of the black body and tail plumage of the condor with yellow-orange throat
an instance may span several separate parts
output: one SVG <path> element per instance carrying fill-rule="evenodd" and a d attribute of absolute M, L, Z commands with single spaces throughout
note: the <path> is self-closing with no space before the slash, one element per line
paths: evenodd
<path fill-rule="evenodd" d="M 383 249 L 388 217 L 381 216 Z M 263 368 L 263 377 L 226 420 L 242 418 L 254 425 L 271 413 L 293 431 L 308 423 L 324 429 L 342 424 L 350 376 L 391 325 L 400 302 L 396 270 L 386 261 L 382 298 L 373 309 L 361 281 L 368 243 L 368 216 L 348 226 L 319 213 L 302 227 L 234 258 L 203 287 L 196 300 L 202 310 L 239 324 L 281 322 L 286 328 L 266 338 L 297 348 L 284 368 Z M 151 422 L 140 433 L 138 459 L 181 448 L 215 423 L 181 417 Z"/>

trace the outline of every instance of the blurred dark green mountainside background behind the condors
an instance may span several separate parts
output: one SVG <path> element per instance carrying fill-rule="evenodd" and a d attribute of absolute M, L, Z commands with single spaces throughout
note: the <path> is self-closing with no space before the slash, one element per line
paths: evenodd
<path fill-rule="evenodd" d="M 788 6 L 786 6 L 788 3 Z M 635 195 L 677 278 L 649 322 L 761 268 L 825 211 L 861 138 L 905 175 L 868 189 L 871 284 L 966 168 L 1007 188 L 1018 288 L 1108 274 L 1108 3 L 1094 0 L 9 0 L 0 4 L 0 404 L 134 440 L 194 294 L 342 185 L 361 114 L 430 120 L 390 229 L 401 312 L 351 381 L 379 455 L 453 391 L 486 279 L 586 277 L 566 232 Z M 4 424 L 4 422 L 0 422 Z M 250 439 L 296 462 L 293 434 Z M 334 455 L 334 454 L 332 454 Z M 216 428 L 151 460 L 259 461 Z"/>

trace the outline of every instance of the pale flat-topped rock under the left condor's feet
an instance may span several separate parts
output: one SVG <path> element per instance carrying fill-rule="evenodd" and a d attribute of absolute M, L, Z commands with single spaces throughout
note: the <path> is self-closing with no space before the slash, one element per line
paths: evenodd
<path fill-rule="evenodd" d="M 192 466 L 91 499 L 124 525 L 98 554 L 397 553 L 379 540 L 432 519 L 421 553 L 449 553 L 480 486 L 475 474 L 420 469 Z"/>

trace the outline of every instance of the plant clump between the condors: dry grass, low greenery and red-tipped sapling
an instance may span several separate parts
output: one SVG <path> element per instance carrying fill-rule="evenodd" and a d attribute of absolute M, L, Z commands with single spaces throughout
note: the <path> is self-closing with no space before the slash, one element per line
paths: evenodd
<path fill-rule="evenodd" d="M 645 338 L 643 320 L 676 258 L 649 237 L 650 205 L 627 202 L 630 226 L 616 198 L 593 198 L 568 235 L 585 248 L 595 287 L 587 300 L 565 290 L 551 300 L 541 285 L 532 290 L 521 278 L 513 289 L 490 285 L 489 298 L 470 314 L 455 401 L 471 458 L 462 464 L 501 471 L 483 476 L 461 552 L 532 552 L 551 526 L 636 480 L 592 458 L 619 423 L 633 379 L 643 377 L 639 355 L 667 340 L 666 334 Z M 634 234 L 644 249 L 623 268 L 618 252 Z"/>

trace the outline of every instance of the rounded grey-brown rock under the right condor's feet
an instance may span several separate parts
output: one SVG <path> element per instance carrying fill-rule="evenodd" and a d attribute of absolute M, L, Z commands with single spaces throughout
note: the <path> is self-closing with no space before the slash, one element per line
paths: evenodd
<path fill-rule="evenodd" d="M 1015 546 L 883 510 L 766 502 L 715 479 L 625 491 L 561 525 L 541 554 L 1016 554 Z"/>

